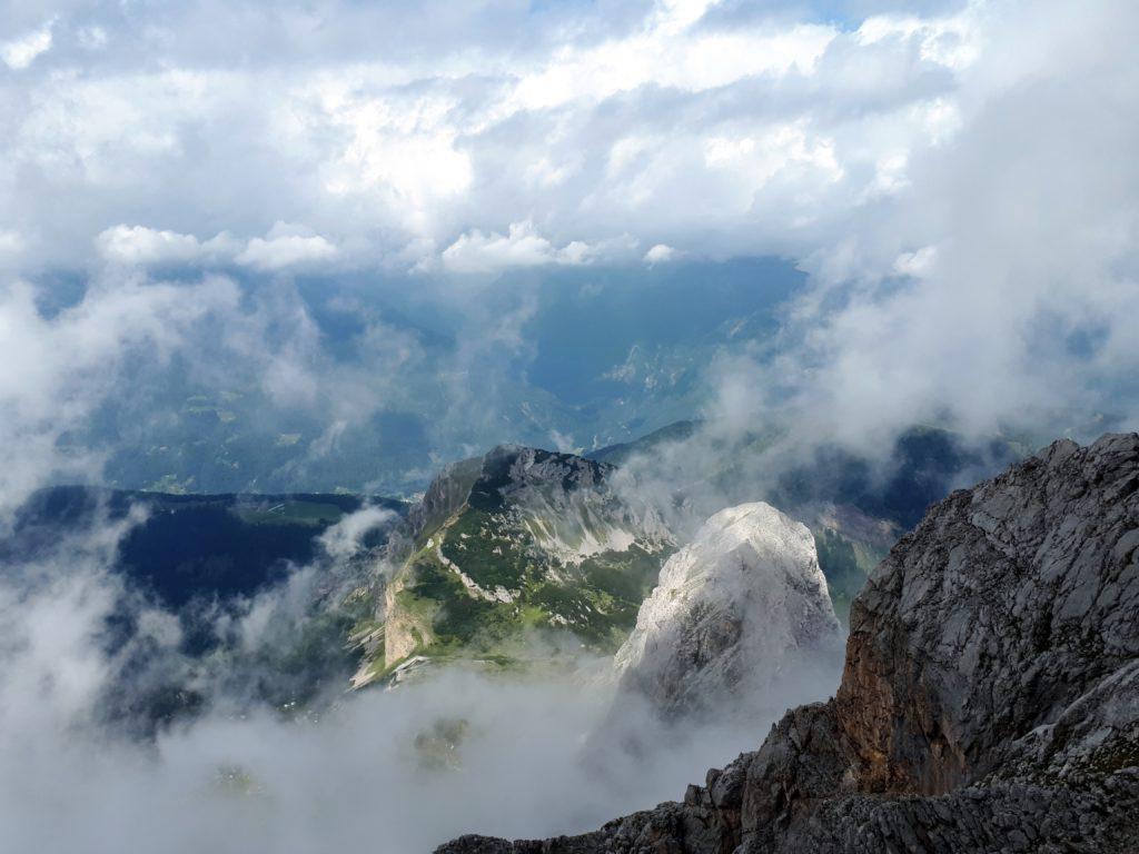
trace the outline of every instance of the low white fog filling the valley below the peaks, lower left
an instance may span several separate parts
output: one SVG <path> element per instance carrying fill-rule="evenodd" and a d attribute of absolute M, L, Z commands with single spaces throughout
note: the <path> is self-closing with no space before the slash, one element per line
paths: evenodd
<path fill-rule="evenodd" d="M 694 722 L 683 737 L 626 704 L 617 714 L 645 746 L 636 757 L 588 742 L 611 714 L 607 660 L 560 678 L 440 671 L 396 690 L 337 692 L 319 715 L 292 718 L 215 689 L 213 711 L 136 739 L 95 709 L 131 690 L 128 650 L 178 639 L 170 615 L 134 598 L 137 637 L 105 651 L 105 621 L 123 601 L 107 567 L 129 524 L 9 566 L 0 582 L 6 851 L 402 853 L 464 832 L 584 831 L 680 797 L 711 764 L 754 749 L 782 708 L 835 684 L 806 680 L 794 696 L 762 698 L 769 714 Z M 272 606 L 255 605 L 259 619 Z"/>

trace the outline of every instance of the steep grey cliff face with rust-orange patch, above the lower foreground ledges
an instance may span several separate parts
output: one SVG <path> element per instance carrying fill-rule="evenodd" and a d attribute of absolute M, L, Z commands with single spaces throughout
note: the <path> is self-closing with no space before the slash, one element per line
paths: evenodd
<path fill-rule="evenodd" d="M 975 780 L 1139 656 L 1137 528 L 1133 436 L 1056 443 L 931 514 L 851 614 L 836 700 L 863 783 Z"/>

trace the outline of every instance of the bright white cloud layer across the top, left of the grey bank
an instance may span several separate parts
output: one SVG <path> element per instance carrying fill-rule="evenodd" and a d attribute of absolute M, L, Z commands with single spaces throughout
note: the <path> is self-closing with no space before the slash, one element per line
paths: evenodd
<path fill-rule="evenodd" d="M 0 194 L 0 221 L 50 236 L 31 263 L 72 265 L 118 223 L 255 237 L 267 211 L 313 232 L 248 246 L 246 263 L 264 270 L 328 261 L 334 247 L 345 266 L 399 265 L 409 245 L 493 241 L 501 223 L 526 221 L 579 249 L 667 233 L 718 256 L 796 254 L 820 223 L 903 187 L 898 164 L 951 138 L 986 44 L 973 7 L 855 32 L 780 18 L 716 27 L 708 8 L 661 3 L 592 31 L 510 18 L 525 27 L 501 33 L 510 47 L 451 34 L 385 61 L 327 48 L 240 67 L 203 58 L 202 33 L 254 50 L 261 32 L 244 27 L 256 15 L 228 18 L 224 36 L 192 3 L 177 31 L 148 28 L 146 10 L 130 38 L 92 20 L 87 47 L 56 57 L 67 73 L 10 105 L 0 182 L 24 178 L 18 206 Z M 320 30 L 352 41 L 362 14 L 337 7 Z M 405 15 L 423 39 L 431 9 L 374 14 Z M 498 14 L 514 13 L 470 18 Z M 167 59 L 126 52 L 112 72 L 92 47 L 112 40 Z"/>

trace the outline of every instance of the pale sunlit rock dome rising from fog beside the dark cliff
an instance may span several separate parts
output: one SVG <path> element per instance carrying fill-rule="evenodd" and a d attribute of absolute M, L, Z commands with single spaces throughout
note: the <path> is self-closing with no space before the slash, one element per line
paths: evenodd
<path fill-rule="evenodd" d="M 838 642 L 811 532 L 751 503 L 715 514 L 669 558 L 615 664 L 623 691 L 678 720 L 770 693 Z"/>

